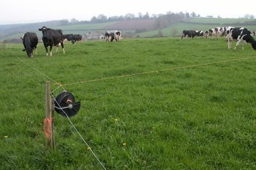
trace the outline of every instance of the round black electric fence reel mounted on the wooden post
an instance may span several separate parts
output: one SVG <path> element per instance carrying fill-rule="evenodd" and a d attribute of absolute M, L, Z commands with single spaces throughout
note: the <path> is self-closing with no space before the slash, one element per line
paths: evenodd
<path fill-rule="evenodd" d="M 75 102 L 75 97 L 70 92 L 64 91 L 57 95 L 54 101 L 55 111 L 63 117 L 73 117 L 80 109 L 80 101 Z"/>

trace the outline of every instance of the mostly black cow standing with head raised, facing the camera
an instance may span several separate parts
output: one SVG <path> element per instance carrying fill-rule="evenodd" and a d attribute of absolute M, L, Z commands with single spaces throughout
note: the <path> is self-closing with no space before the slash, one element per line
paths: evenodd
<path fill-rule="evenodd" d="M 46 56 L 48 56 L 48 46 L 50 46 L 50 56 L 52 56 L 52 46 L 56 46 L 56 53 L 58 51 L 58 47 L 61 45 L 63 49 L 63 53 L 65 53 L 63 38 L 62 38 L 62 30 L 61 29 L 51 29 L 46 28 L 45 26 L 38 29 L 43 33 L 43 43 L 46 50 Z"/>

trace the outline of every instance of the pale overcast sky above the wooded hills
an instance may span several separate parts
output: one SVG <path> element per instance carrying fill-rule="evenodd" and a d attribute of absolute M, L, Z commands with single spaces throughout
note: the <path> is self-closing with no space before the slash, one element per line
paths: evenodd
<path fill-rule="evenodd" d="M 235 3 L 233 3 L 235 2 Z M 241 2 L 241 1 L 240 1 Z M 256 17 L 256 1 L 113 1 L 113 0 L 1 0 L 0 24 L 41 22 L 75 18 L 79 21 L 90 20 L 93 16 L 125 15 L 127 13 L 165 14 L 180 11 L 194 11 L 201 16 L 237 18 L 245 14 Z"/>

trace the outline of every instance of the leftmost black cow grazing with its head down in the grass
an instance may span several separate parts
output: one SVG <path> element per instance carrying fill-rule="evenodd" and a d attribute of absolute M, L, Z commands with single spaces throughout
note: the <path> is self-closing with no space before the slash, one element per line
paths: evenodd
<path fill-rule="evenodd" d="M 23 35 L 21 39 L 25 48 L 22 51 L 26 51 L 28 57 L 33 57 L 34 49 L 35 49 L 35 54 L 37 54 L 37 44 L 38 44 L 37 34 L 27 32 Z"/>

